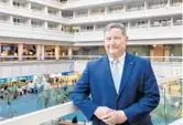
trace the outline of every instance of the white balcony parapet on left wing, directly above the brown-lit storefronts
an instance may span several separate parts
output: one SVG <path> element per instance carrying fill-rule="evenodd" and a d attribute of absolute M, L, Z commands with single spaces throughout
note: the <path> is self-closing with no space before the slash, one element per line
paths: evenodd
<path fill-rule="evenodd" d="M 18 25 L 17 25 L 18 24 Z M 68 41 L 74 40 L 74 35 L 68 32 L 62 32 L 57 30 L 49 30 L 44 28 L 32 28 L 31 25 L 22 25 L 21 23 L 11 24 L 2 23 L 0 24 L 1 34 L 0 37 L 10 38 L 26 38 L 36 40 L 51 40 L 51 41 Z M 65 42 L 66 44 L 69 44 Z"/>

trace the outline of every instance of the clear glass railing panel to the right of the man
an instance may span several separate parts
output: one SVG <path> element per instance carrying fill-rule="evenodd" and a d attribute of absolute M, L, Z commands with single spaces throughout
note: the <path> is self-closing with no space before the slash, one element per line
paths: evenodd
<path fill-rule="evenodd" d="M 154 125 L 169 125 L 183 117 L 183 82 L 182 76 L 160 79 L 158 81 L 161 100 L 151 113 Z M 177 124 L 179 125 L 179 124 Z"/>

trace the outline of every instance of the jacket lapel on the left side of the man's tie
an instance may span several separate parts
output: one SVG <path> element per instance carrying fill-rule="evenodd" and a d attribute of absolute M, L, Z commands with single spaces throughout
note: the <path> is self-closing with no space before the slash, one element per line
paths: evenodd
<path fill-rule="evenodd" d="M 114 79 L 112 79 L 111 71 L 110 71 L 110 64 L 109 64 L 109 60 L 108 60 L 107 55 L 105 55 L 105 58 L 104 58 L 104 69 L 105 69 L 105 74 L 106 74 L 106 76 L 105 76 L 106 85 L 110 85 L 111 90 L 109 90 L 109 91 L 115 93 L 115 95 L 117 96 L 117 92 L 116 92 L 115 84 L 114 84 Z"/>

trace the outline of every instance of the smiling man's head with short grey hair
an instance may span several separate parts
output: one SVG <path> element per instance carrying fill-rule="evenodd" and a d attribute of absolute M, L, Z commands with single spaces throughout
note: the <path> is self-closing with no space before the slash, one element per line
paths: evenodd
<path fill-rule="evenodd" d="M 120 23 L 110 23 L 105 28 L 104 35 L 107 54 L 112 59 L 120 58 L 128 40 L 126 28 Z"/>

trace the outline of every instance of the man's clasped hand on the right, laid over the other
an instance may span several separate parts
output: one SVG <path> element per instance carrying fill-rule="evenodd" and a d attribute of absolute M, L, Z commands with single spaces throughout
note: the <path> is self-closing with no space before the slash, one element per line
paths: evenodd
<path fill-rule="evenodd" d="M 115 111 L 104 115 L 101 121 L 109 125 L 122 124 L 127 121 L 127 116 L 123 111 Z"/>

